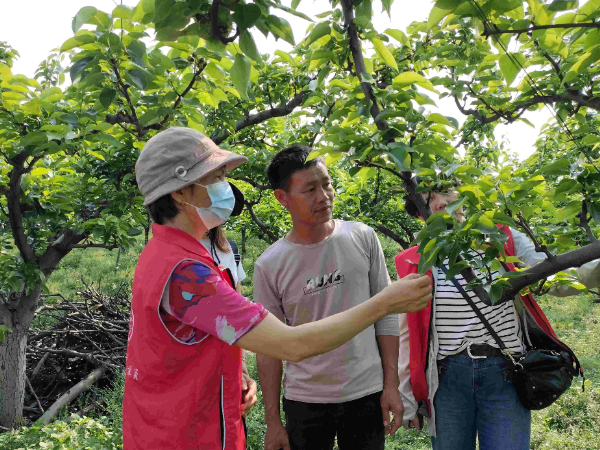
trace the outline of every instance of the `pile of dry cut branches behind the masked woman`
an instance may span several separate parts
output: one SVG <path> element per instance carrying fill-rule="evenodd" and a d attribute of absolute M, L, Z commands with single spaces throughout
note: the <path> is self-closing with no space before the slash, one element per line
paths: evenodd
<path fill-rule="evenodd" d="M 125 286 L 105 296 L 100 286 L 84 283 L 74 301 L 60 294 L 53 297 L 60 301 L 51 304 L 48 299 L 39 308 L 43 329 L 32 329 L 27 345 L 29 400 L 24 412 L 45 423 L 98 380 L 108 381 L 125 367 L 129 330 Z M 94 402 L 88 405 L 93 407 Z"/>

